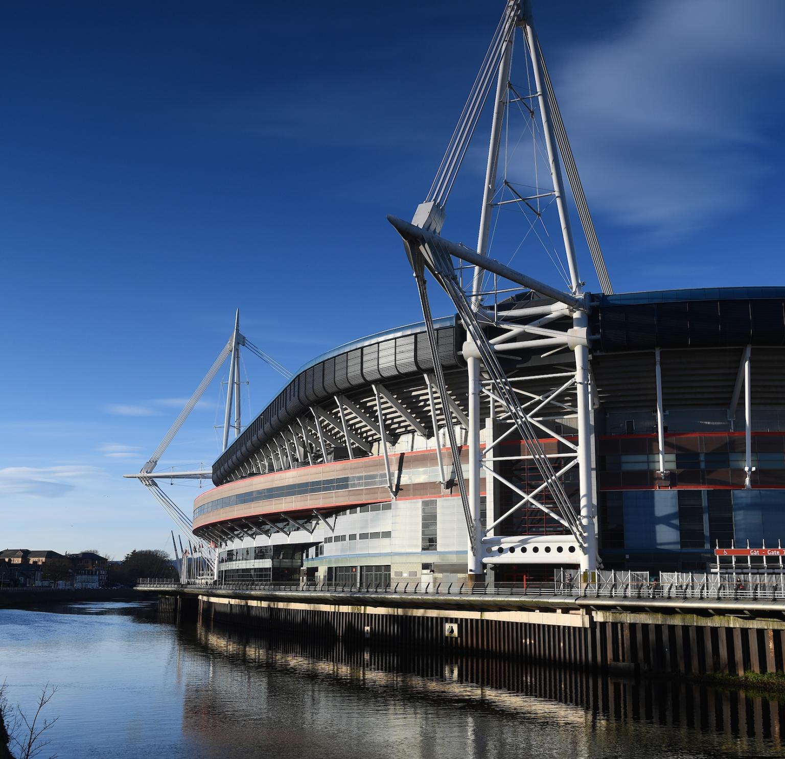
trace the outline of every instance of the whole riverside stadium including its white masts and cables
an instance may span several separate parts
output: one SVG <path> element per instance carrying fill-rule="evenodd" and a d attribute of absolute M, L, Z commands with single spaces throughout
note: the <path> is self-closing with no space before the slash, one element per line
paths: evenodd
<path fill-rule="evenodd" d="M 523 71 L 512 64 L 519 32 Z M 442 230 L 486 102 L 470 249 Z M 579 271 L 573 213 L 597 293 Z M 590 582 L 598 569 L 719 571 L 718 550 L 734 567 L 735 556 L 750 570 L 783 567 L 785 288 L 614 292 L 527 3 L 506 3 L 411 223 L 388 219 L 422 321 L 283 370 L 287 385 L 246 428 L 239 347 L 283 367 L 235 321 L 135 475 L 199 538 L 210 582 L 449 587 L 554 571 Z M 563 285 L 511 268 L 527 241 L 518 261 L 533 268 L 544 249 Z M 454 316 L 433 318 L 434 282 Z M 227 358 L 223 453 L 191 519 L 155 466 Z"/>

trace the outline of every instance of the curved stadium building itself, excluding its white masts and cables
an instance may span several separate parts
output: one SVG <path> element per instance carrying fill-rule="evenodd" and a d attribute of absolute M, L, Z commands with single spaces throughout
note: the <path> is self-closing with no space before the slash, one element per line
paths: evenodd
<path fill-rule="evenodd" d="M 592 480 L 604 568 L 705 570 L 714 546 L 776 545 L 785 534 L 785 288 L 593 301 Z M 531 321 L 526 312 L 547 305 L 519 302 L 517 318 Z M 400 327 L 303 367 L 215 462 L 215 487 L 196 499 L 193 524 L 220 546 L 222 579 L 466 582 L 469 535 L 445 434 L 454 427 L 466 469 L 466 332 L 455 318 L 435 327 L 446 403 L 425 326 Z M 575 394 L 553 392 L 575 362 L 568 348 L 541 353 L 507 354 L 508 376 L 531 398 L 550 398 L 539 418 L 554 434 L 539 440 L 560 466 L 575 441 Z M 480 405 L 483 448 L 503 432 L 494 405 L 491 396 Z M 521 458 L 525 447 L 504 438 L 491 465 L 531 491 L 542 479 Z M 577 478 L 565 480 L 574 500 Z M 485 525 L 516 497 L 490 473 L 480 495 Z M 530 539 L 518 563 L 487 564 L 497 582 L 578 568 L 568 530 L 541 509 L 518 509 L 498 531 Z"/>

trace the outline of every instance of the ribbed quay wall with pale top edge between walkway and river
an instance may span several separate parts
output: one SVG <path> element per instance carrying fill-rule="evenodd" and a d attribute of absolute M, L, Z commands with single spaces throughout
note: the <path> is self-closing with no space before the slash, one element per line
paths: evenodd
<path fill-rule="evenodd" d="M 278 596 L 286 595 L 286 598 Z M 292 593 L 188 589 L 162 608 L 202 622 L 250 626 L 296 637 L 554 662 L 665 675 L 783 673 L 785 619 L 759 608 L 737 615 L 707 608 L 607 608 L 576 599 L 406 599 L 377 596 L 295 599 Z M 309 594 L 311 595 L 311 594 Z M 585 599 L 577 599 L 583 601 Z M 443 607 L 443 608 L 440 608 Z M 446 608 L 445 608 L 446 607 Z"/>

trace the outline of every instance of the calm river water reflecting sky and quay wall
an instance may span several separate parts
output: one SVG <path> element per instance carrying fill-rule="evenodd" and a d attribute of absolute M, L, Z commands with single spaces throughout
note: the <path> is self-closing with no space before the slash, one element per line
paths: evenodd
<path fill-rule="evenodd" d="M 549 667 L 265 639 L 155 604 L 0 609 L 0 682 L 58 691 L 71 757 L 779 757 L 776 697 Z"/>

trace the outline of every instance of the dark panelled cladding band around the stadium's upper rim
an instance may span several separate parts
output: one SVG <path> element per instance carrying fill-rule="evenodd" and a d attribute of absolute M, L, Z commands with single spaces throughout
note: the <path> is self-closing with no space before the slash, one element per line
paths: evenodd
<path fill-rule="evenodd" d="M 593 302 L 593 352 L 785 345 L 785 287 L 657 290 L 599 295 Z M 465 332 L 455 316 L 435 319 L 434 324 L 442 366 L 464 366 Z M 422 322 L 370 335 L 318 356 L 221 454 L 213 465 L 213 482 L 224 483 L 265 440 L 309 407 L 375 381 L 405 381 L 411 376 L 419 382 L 422 373 L 432 369 Z"/>

